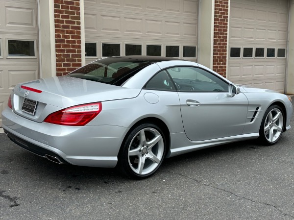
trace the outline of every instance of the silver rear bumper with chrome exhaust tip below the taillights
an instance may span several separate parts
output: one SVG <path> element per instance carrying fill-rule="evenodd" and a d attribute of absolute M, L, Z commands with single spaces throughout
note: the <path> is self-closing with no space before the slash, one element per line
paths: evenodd
<path fill-rule="evenodd" d="M 57 162 L 113 168 L 128 128 L 115 125 L 63 126 L 27 120 L 6 108 L 2 126 L 19 146 Z"/>

